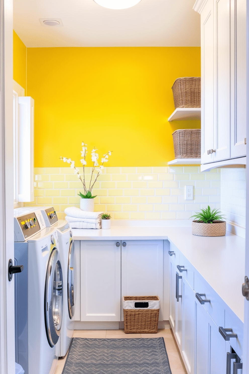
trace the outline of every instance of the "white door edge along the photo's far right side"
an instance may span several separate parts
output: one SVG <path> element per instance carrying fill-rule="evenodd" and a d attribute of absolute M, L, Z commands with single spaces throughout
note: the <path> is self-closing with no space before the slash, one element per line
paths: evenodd
<path fill-rule="evenodd" d="M 249 0 L 246 1 L 246 153 L 249 155 Z M 248 156 L 247 156 L 248 157 Z M 248 174 L 248 173 L 247 173 Z M 249 175 L 246 177 L 246 261 L 245 275 L 249 278 Z M 243 374 L 249 373 L 249 301 L 245 298 L 244 338 L 243 338 Z"/>

